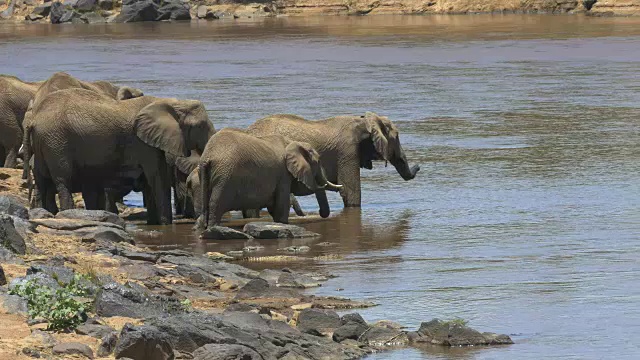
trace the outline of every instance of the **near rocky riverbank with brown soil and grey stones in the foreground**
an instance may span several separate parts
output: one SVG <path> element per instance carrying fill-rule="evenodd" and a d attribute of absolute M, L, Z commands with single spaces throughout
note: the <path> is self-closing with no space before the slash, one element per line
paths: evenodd
<path fill-rule="evenodd" d="M 462 321 L 407 331 L 339 316 L 375 304 L 305 293 L 330 274 L 137 247 L 115 214 L 27 209 L 20 175 L 0 169 L 2 359 L 353 359 L 398 346 L 512 344 Z"/>

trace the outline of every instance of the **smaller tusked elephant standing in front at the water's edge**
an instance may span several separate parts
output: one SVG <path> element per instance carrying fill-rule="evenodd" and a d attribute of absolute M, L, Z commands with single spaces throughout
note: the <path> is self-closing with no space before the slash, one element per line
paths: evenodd
<path fill-rule="evenodd" d="M 290 193 L 341 188 L 327 180 L 320 155 L 308 143 L 237 129 L 223 129 L 209 139 L 199 173 L 205 227 L 220 224 L 227 211 L 264 207 L 274 221 L 286 224 Z"/>

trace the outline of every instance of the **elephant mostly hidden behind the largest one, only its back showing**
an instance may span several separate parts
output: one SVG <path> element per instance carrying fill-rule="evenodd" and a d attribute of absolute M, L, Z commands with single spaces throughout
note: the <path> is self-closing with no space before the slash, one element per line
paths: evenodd
<path fill-rule="evenodd" d="M 44 101 L 44 99 L 46 99 L 49 94 L 65 89 L 85 89 L 93 91 L 97 94 L 108 96 L 116 100 L 133 99 L 144 95 L 142 93 L 142 90 L 129 86 L 117 86 L 108 81 L 101 80 L 94 82 L 82 81 L 65 72 L 57 72 L 51 75 L 51 77 L 49 77 L 46 81 L 41 83 L 41 85 L 37 88 L 35 94 L 33 94 L 33 99 L 31 99 L 32 102 L 30 104 L 29 102 L 27 102 L 27 104 L 29 105 L 29 111 L 27 111 L 26 115 L 24 116 L 23 128 L 27 128 L 31 123 L 31 118 L 33 115 L 33 111 L 31 109 L 39 108 L 40 103 Z M 26 143 L 26 140 L 27 139 L 22 136 L 23 145 Z M 30 159 L 31 154 L 25 152 L 24 158 Z M 28 174 L 25 169 L 23 171 L 22 178 L 26 179 L 27 175 Z"/>

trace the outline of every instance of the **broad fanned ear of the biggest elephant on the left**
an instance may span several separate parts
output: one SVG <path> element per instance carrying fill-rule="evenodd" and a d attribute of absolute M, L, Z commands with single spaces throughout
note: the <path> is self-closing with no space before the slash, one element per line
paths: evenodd
<path fill-rule="evenodd" d="M 133 122 L 135 133 L 147 145 L 175 156 L 189 156 L 179 115 L 167 103 L 154 102 L 145 106 Z"/>

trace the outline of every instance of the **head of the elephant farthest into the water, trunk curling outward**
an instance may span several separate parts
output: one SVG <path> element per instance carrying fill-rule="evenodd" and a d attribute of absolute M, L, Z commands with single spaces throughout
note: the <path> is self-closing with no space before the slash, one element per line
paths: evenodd
<path fill-rule="evenodd" d="M 364 127 L 359 144 L 360 167 L 371 169 L 373 160 L 384 160 L 390 162 L 404 180 L 413 179 L 420 166 L 409 167 L 396 126 L 387 117 L 372 112 L 361 118 Z"/>

